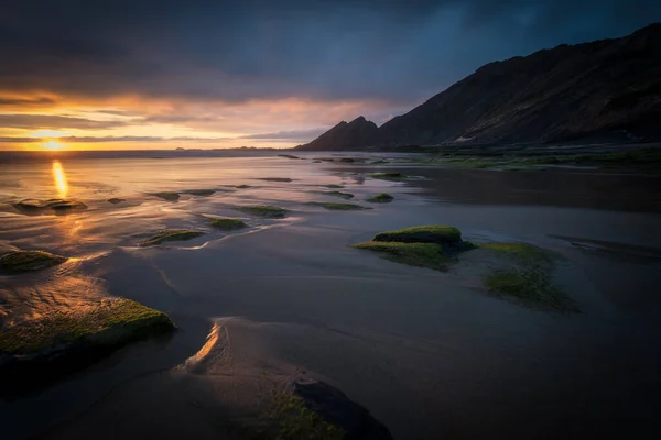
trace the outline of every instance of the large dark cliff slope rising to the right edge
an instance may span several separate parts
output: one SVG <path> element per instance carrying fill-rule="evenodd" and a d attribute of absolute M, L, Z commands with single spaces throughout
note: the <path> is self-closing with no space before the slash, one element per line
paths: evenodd
<path fill-rule="evenodd" d="M 659 121 L 661 24 L 657 23 L 617 40 L 563 45 L 485 65 L 384 123 L 376 134 L 370 131 L 362 140 L 347 135 L 324 150 L 347 150 L 349 144 L 359 148 L 659 140 Z M 328 133 L 303 147 L 317 150 L 313 144 Z"/>

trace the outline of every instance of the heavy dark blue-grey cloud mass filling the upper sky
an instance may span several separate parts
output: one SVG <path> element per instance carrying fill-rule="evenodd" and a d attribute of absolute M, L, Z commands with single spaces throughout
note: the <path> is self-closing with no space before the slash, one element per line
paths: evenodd
<path fill-rule="evenodd" d="M 409 102 L 490 61 L 658 20 L 659 0 L 4 0 L 0 87 Z"/>

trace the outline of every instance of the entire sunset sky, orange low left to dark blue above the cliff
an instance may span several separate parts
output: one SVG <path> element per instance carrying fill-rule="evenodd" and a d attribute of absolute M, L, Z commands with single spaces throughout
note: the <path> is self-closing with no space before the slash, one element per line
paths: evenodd
<path fill-rule="evenodd" d="M 2 0 L 0 150 L 290 147 L 660 0 Z"/>

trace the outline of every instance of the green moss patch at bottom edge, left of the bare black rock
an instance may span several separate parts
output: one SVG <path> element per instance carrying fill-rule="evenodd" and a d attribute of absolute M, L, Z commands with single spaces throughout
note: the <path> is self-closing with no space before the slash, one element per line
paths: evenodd
<path fill-rule="evenodd" d="M 301 397 L 274 392 L 271 406 L 262 415 L 260 438 L 296 440 L 343 440 L 346 433 L 308 409 Z"/>

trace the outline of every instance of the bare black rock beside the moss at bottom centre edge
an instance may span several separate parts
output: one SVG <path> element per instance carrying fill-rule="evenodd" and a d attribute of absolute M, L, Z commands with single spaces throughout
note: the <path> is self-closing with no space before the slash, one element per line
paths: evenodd
<path fill-rule="evenodd" d="M 294 395 L 307 409 L 345 432 L 347 440 L 391 440 L 383 424 L 362 406 L 349 400 L 339 389 L 324 382 L 297 382 Z"/>

